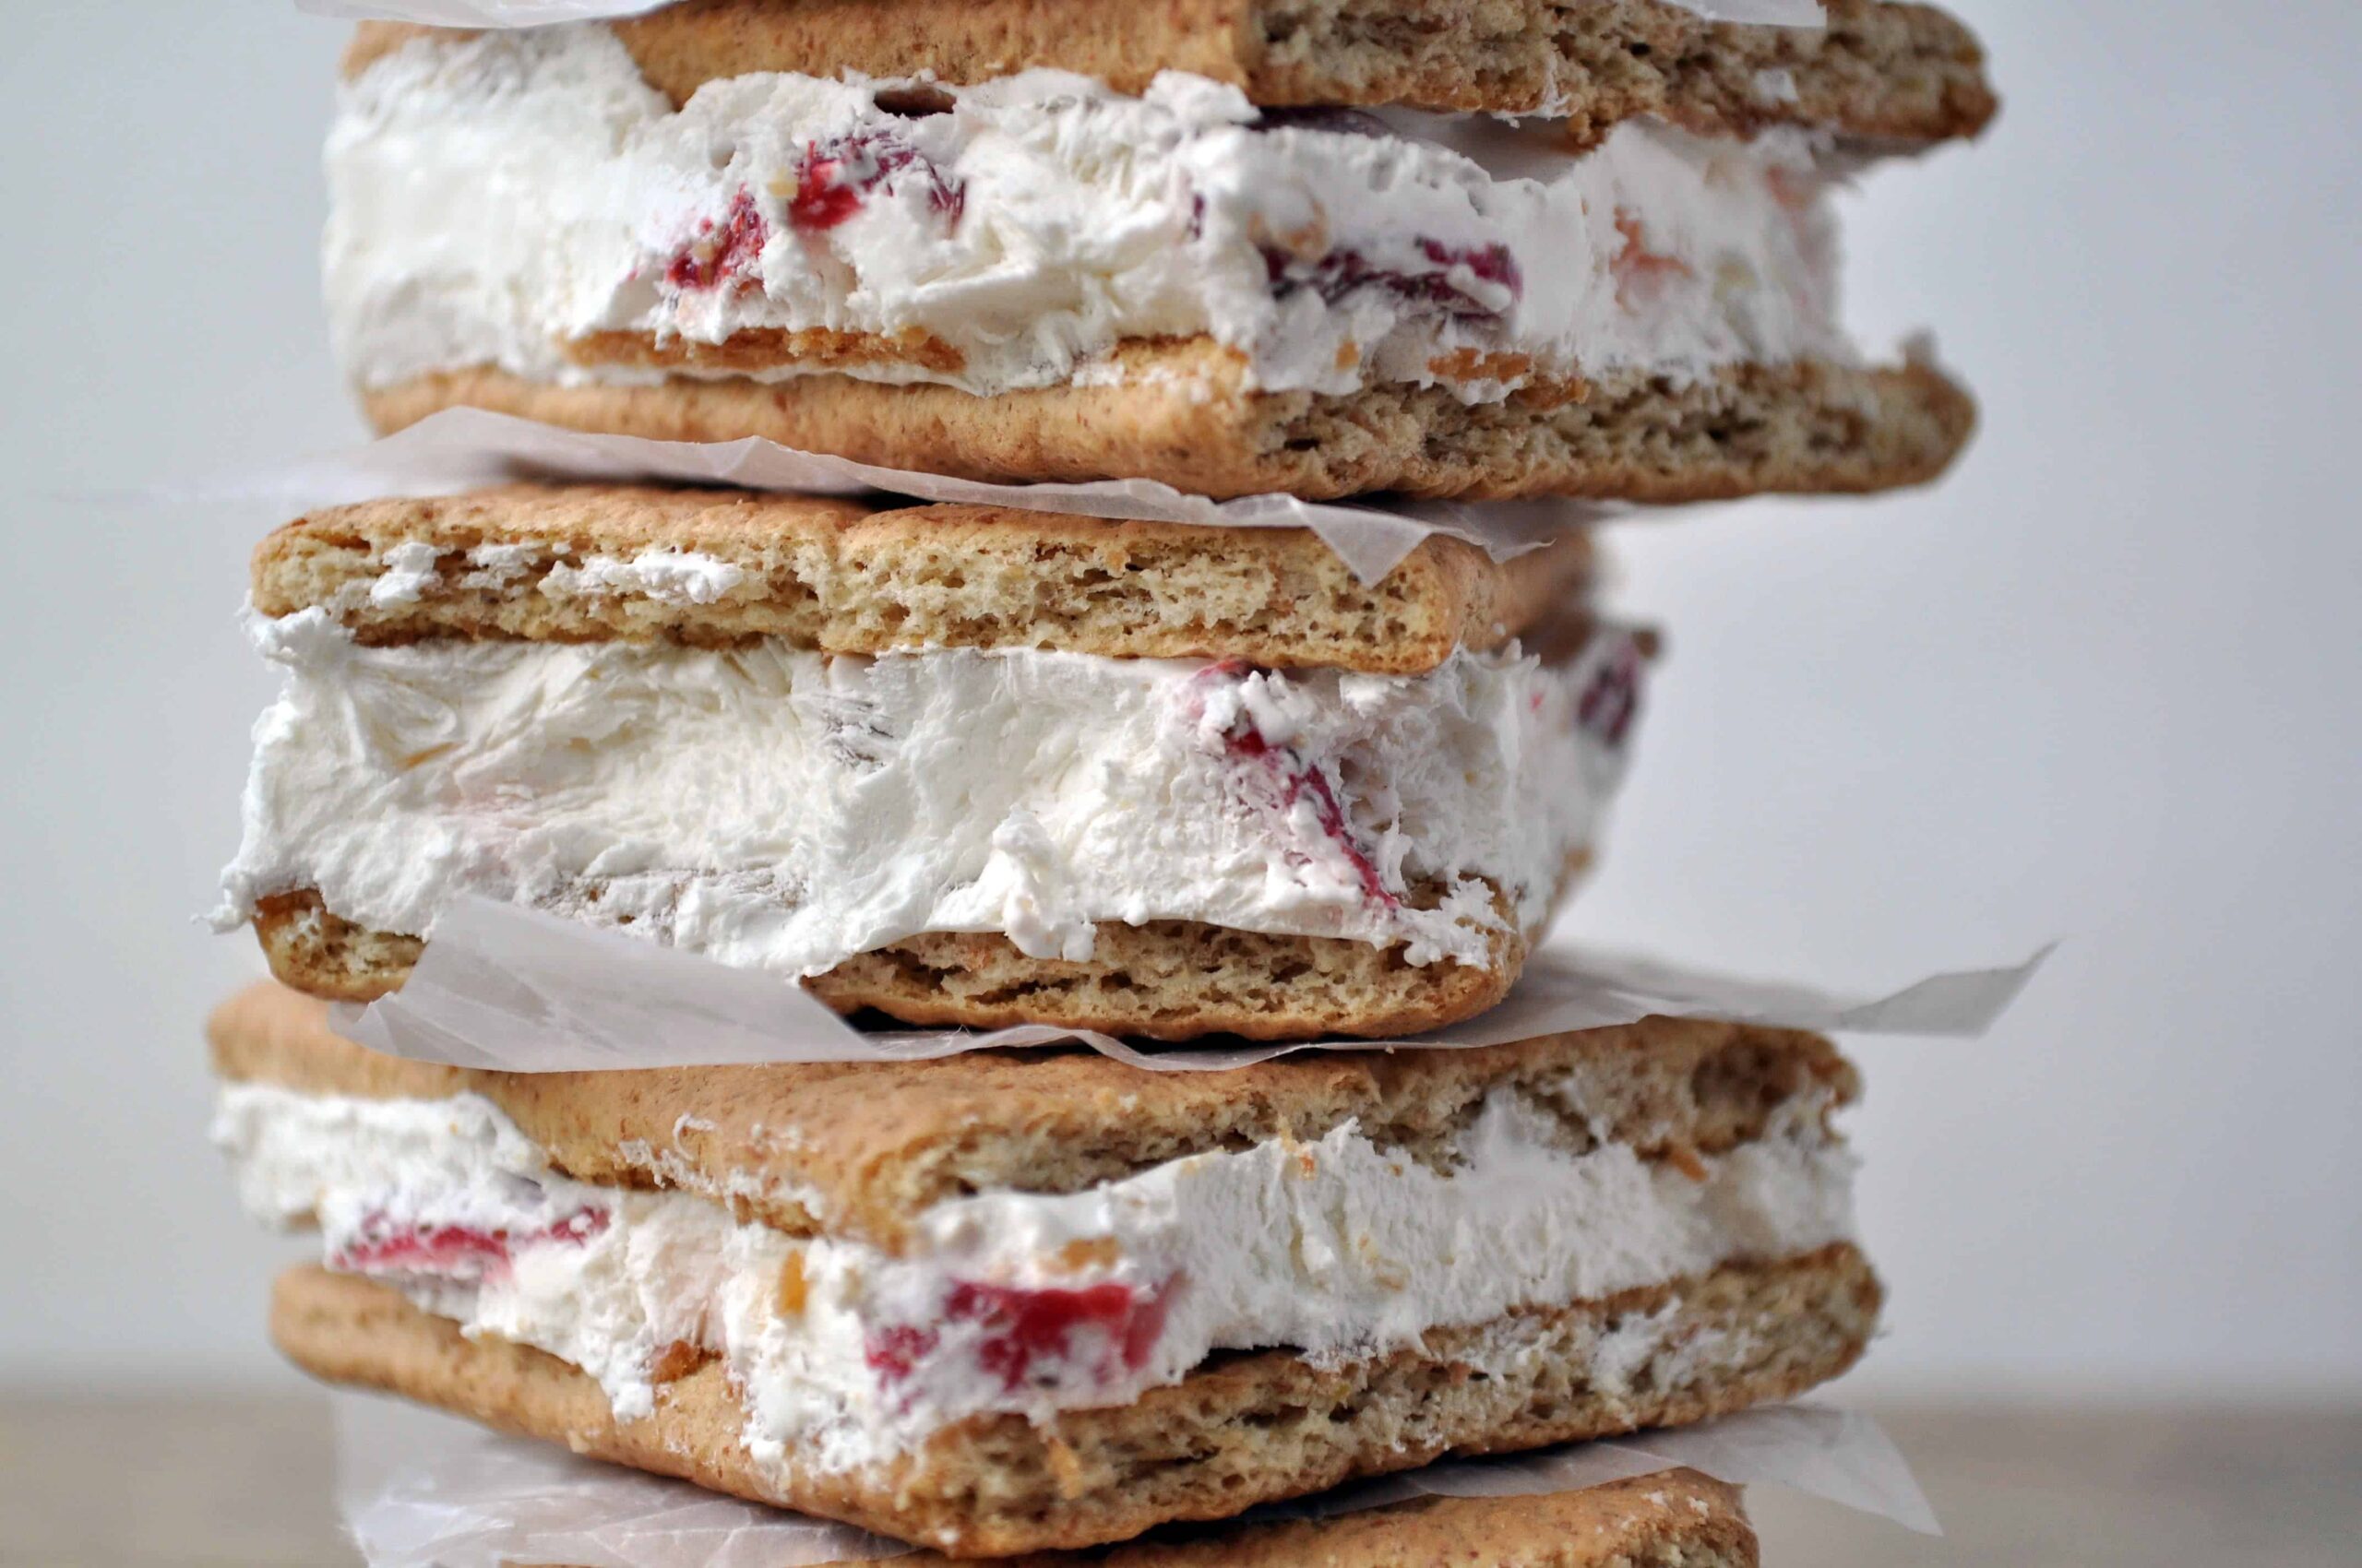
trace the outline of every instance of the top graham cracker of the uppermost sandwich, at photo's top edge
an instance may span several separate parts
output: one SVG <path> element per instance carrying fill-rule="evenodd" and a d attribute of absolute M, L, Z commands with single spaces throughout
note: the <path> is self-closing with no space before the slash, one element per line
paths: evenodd
<path fill-rule="evenodd" d="M 1257 104 L 1564 116 L 1590 144 L 1656 116 L 1703 135 L 1816 125 L 1968 137 L 1996 99 L 1975 35 L 1925 5 L 1828 0 L 1823 28 L 1717 24 L 1668 0 L 687 0 L 614 33 L 676 104 L 751 71 L 980 83 L 1056 66 L 1141 92 L 1157 71 Z M 368 24 L 345 71 L 423 28 Z"/>

